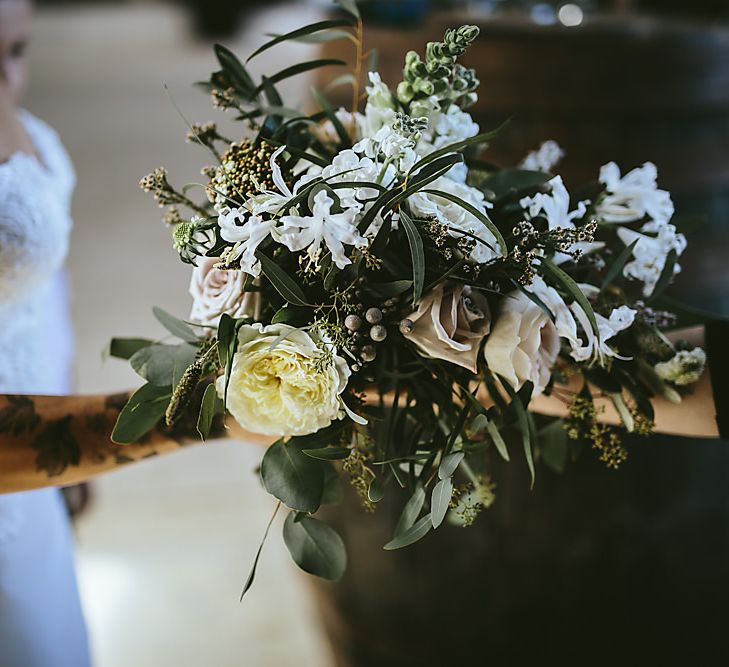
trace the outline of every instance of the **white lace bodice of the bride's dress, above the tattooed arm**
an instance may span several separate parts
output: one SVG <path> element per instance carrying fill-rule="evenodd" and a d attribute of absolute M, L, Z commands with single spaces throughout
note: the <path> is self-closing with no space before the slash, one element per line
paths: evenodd
<path fill-rule="evenodd" d="M 71 335 L 62 268 L 75 176 L 55 131 L 20 119 L 37 157 L 0 164 L 0 392 L 69 390 Z"/>

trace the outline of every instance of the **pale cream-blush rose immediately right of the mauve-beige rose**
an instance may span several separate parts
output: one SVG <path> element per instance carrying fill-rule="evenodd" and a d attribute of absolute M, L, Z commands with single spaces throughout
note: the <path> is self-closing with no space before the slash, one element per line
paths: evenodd
<path fill-rule="evenodd" d="M 544 310 L 522 292 L 507 294 L 483 354 L 492 373 L 514 389 L 534 384 L 541 394 L 552 376 L 560 342 L 557 327 Z"/>

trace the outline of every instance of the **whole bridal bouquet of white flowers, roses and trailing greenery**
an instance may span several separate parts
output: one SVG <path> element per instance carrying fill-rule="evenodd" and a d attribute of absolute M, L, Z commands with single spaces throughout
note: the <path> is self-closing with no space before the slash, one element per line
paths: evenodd
<path fill-rule="evenodd" d="M 115 441 L 185 418 L 205 438 L 225 415 L 271 436 L 260 475 L 290 510 L 286 544 L 329 579 L 344 545 L 314 515 L 340 475 L 367 510 L 405 489 L 384 545 L 405 547 L 491 505 L 494 456 L 522 459 L 532 483 L 539 461 L 562 468 L 581 450 L 617 467 L 622 435 L 651 432 L 651 399 L 680 401 L 705 362 L 666 338 L 673 316 L 655 306 L 686 240 L 654 165 L 606 164 L 579 194 L 554 173 L 554 142 L 497 168 L 481 155 L 498 131 L 466 111 L 479 82 L 459 63 L 478 28 L 406 54 L 394 88 L 370 71 L 361 91 L 362 23 L 340 4 L 342 18 L 276 36 L 248 61 L 287 40 L 350 42 L 354 71 L 332 84 L 351 87 L 349 110 L 318 90 L 312 113 L 291 108 L 276 87 L 342 61 L 257 81 L 216 47 L 204 85 L 244 130 L 191 126 L 214 160 L 199 198 L 163 169 L 141 183 L 192 265 L 192 312 L 155 310 L 176 343 L 112 344 L 146 380 Z M 530 412 L 543 393 L 564 401 L 564 419 Z M 601 420 L 598 397 L 620 427 Z"/>

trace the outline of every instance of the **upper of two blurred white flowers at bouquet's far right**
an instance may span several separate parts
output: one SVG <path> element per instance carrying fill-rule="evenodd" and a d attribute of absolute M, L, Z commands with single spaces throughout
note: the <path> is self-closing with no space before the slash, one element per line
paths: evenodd
<path fill-rule="evenodd" d="M 614 162 L 603 165 L 600 182 L 607 194 L 597 202 L 597 215 L 604 222 L 635 222 L 648 216 L 658 224 L 668 223 L 673 216 L 673 202 L 670 193 L 658 189 L 657 175 L 652 162 L 646 162 L 623 177 Z"/>

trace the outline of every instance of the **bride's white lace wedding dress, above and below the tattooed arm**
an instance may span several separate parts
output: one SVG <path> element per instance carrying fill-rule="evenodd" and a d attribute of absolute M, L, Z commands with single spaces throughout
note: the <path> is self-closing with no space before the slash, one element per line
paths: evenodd
<path fill-rule="evenodd" d="M 20 118 L 37 157 L 0 164 L 0 393 L 60 394 L 71 375 L 62 267 L 75 177 L 56 133 L 28 112 Z M 0 667 L 88 664 L 59 492 L 0 495 Z"/>

